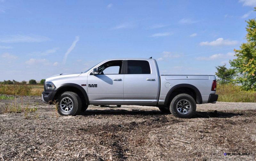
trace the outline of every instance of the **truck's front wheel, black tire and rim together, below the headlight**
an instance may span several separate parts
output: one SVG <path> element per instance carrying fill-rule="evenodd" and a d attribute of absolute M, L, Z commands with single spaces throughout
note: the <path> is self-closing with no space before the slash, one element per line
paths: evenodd
<path fill-rule="evenodd" d="M 76 115 L 81 111 L 80 97 L 74 92 L 63 92 L 58 98 L 58 113 L 60 115 Z"/>

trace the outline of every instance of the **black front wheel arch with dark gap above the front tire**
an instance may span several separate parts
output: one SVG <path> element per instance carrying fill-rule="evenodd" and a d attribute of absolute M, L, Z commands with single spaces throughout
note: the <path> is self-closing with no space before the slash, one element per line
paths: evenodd
<path fill-rule="evenodd" d="M 86 104 L 89 105 L 88 95 L 87 95 L 86 91 L 84 90 L 84 88 L 81 87 L 80 85 L 74 84 L 74 83 L 61 84 L 56 89 L 56 94 L 55 94 L 53 100 L 56 100 L 59 97 L 59 95 L 65 91 L 75 92 L 81 98 L 82 102 L 85 101 Z"/>

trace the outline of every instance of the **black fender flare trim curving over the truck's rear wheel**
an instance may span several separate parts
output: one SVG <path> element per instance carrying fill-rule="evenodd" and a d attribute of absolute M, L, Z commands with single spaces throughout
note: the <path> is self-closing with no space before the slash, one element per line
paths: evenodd
<path fill-rule="evenodd" d="M 196 102 L 198 104 L 202 104 L 203 103 L 203 99 L 202 99 L 202 95 L 200 93 L 200 91 L 194 86 L 194 85 L 191 85 L 191 84 L 177 84 L 177 85 L 174 85 L 167 93 L 166 97 L 165 97 L 165 100 L 164 100 L 164 105 L 167 105 L 168 102 L 169 102 L 169 98 L 172 94 L 172 92 L 177 89 L 177 88 L 180 88 L 180 87 L 188 87 L 188 88 L 191 88 L 193 89 L 195 92 L 196 92 Z"/>

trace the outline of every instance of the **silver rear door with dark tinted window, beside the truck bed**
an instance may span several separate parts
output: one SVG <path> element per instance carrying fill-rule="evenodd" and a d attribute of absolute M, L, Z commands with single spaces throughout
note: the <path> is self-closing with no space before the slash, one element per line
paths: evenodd
<path fill-rule="evenodd" d="M 157 76 L 152 60 L 127 59 L 124 74 L 124 102 L 156 104 Z"/>

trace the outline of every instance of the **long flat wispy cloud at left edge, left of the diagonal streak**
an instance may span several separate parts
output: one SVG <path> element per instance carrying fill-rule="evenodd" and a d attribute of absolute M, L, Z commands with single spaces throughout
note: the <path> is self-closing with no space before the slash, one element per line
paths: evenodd
<path fill-rule="evenodd" d="M 10 35 L 10 36 L 1 36 L 0 42 L 3 43 L 16 43 L 16 42 L 43 42 L 50 40 L 47 37 L 39 35 Z"/>

